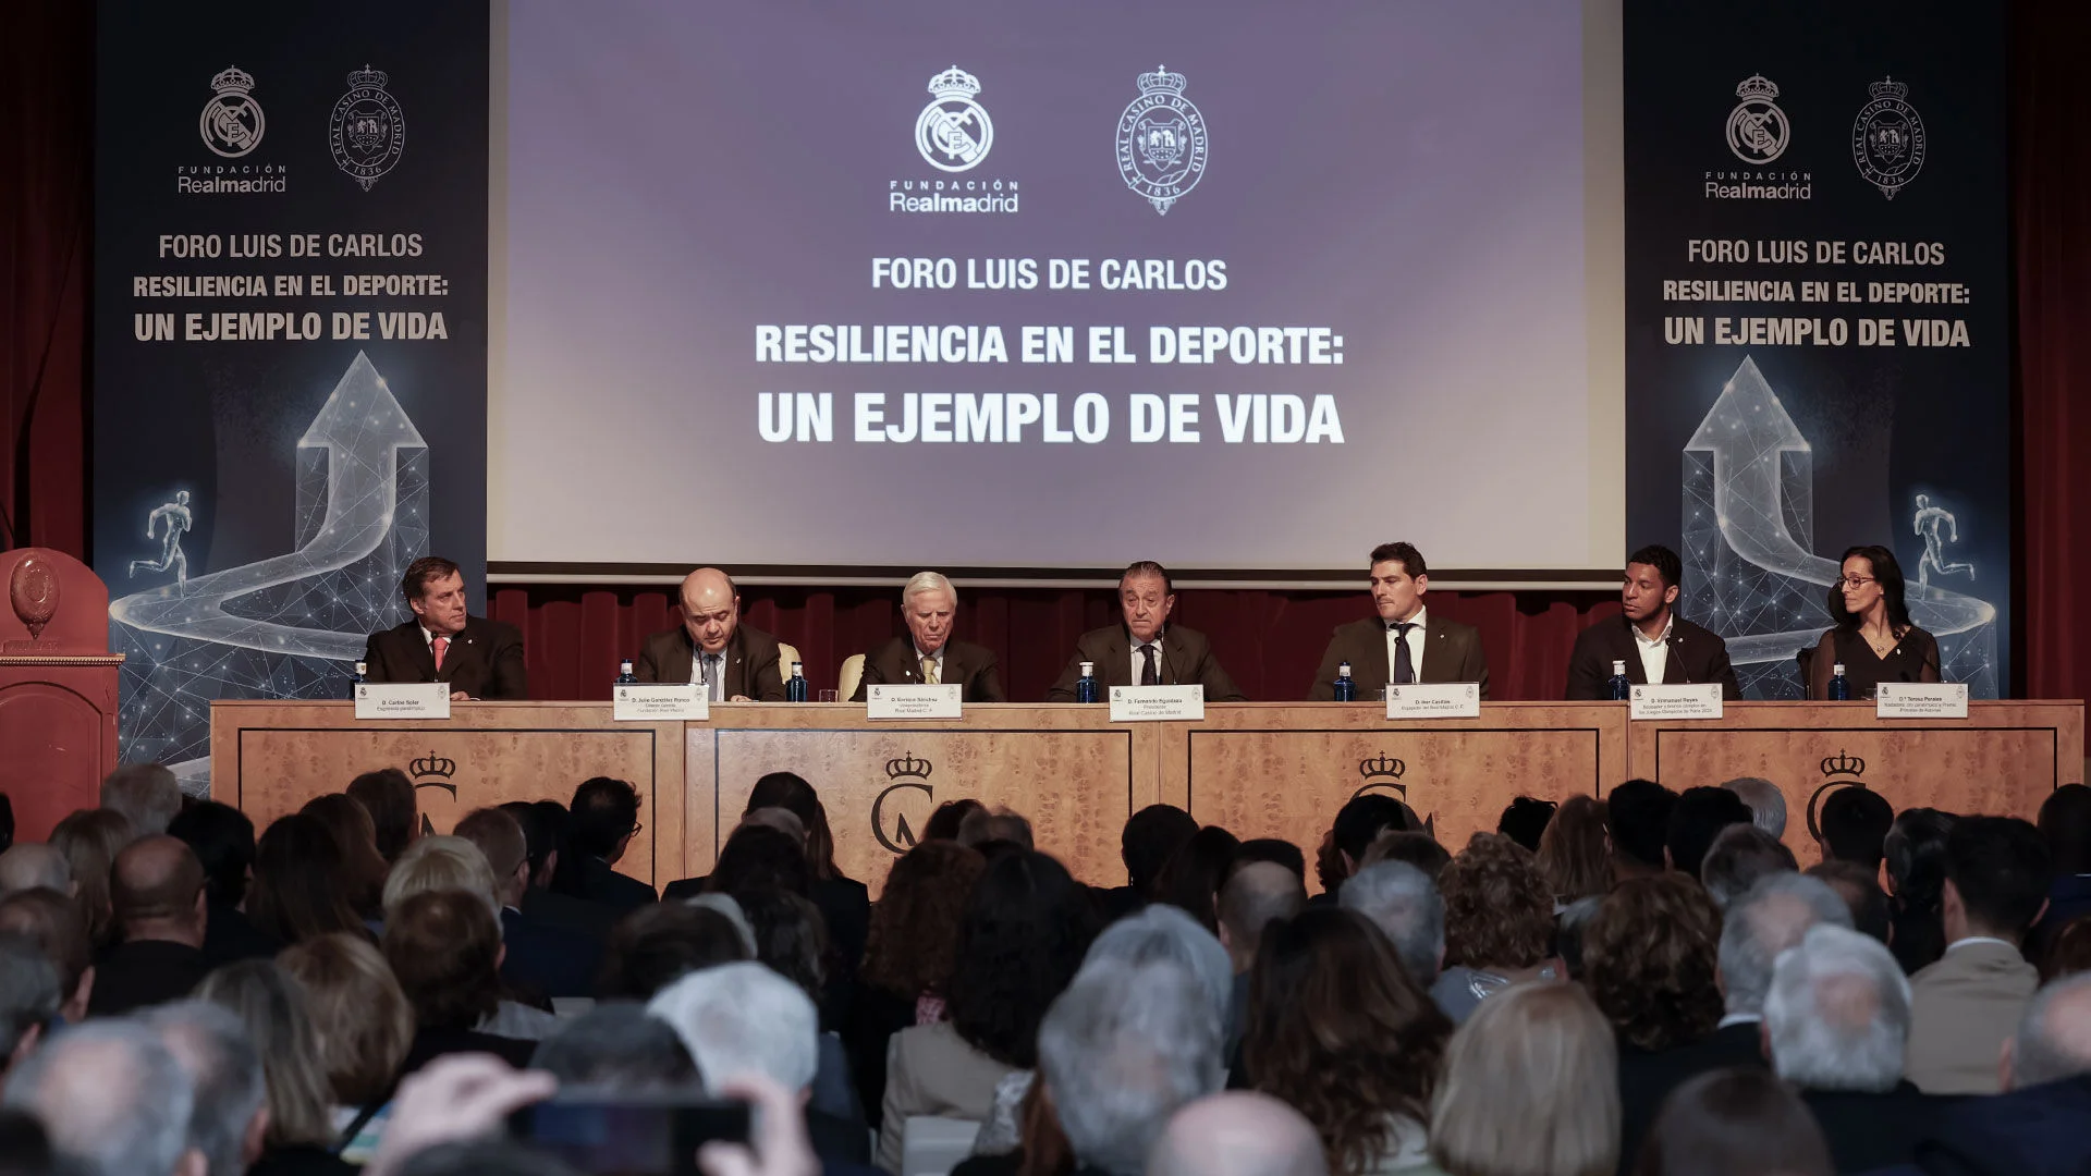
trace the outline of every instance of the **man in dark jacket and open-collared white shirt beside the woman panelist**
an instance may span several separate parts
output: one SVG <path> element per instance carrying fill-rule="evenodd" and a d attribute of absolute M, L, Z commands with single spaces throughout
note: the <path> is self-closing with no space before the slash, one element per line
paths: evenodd
<path fill-rule="evenodd" d="M 1618 588 L 1621 615 L 1598 621 L 1575 638 L 1568 655 L 1568 701 L 1610 699 L 1612 663 L 1627 663 L 1627 680 L 1721 682 L 1721 697 L 1742 701 L 1736 668 L 1727 663 L 1727 642 L 1673 611 L 1683 563 L 1677 552 L 1650 544 L 1627 557 L 1627 578 Z"/>

